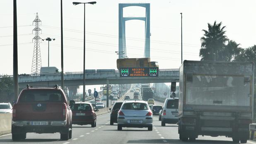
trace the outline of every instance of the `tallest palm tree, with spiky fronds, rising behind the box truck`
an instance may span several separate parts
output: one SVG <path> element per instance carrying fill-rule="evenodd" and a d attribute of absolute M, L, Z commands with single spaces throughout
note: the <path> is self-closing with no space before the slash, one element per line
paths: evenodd
<path fill-rule="evenodd" d="M 221 27 L 222 22 L 211 25 L 208 23 L 208 31 L 203 30 L 204 36 L 201 37 L 201 49 L 199 56 L 201 57 L 201 61 L 222 61 L 222 51 L 225 48 L 225 43 L 228 38 L 225 35 L 226 31 L 224 28 L 226 26 Z"/>

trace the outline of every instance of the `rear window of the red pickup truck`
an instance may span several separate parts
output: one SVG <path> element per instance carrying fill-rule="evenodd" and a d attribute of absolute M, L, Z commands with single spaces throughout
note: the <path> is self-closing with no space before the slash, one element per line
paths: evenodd
<path fill-rule="evenodd" d="M 21 103 L 63 103 L 64 97 L 60 90 L 26 90 L 19 96 Z"/>

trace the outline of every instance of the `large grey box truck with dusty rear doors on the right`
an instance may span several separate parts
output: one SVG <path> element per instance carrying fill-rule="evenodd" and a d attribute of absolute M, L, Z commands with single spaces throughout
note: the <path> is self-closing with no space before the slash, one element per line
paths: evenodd
<path fill-rule="evenodd" d="M 246 143 L 253 118 L 254 63 L 184 61 L 179 77 L 179 138 L 232 137 Z"/>

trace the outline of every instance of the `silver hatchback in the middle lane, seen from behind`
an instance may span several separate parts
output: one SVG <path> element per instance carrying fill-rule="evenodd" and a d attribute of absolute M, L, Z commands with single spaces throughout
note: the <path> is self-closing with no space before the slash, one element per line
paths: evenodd
<path fill-rule="evenodd" d="M 152 111 L 147 102 L 124 101 L 118 111 L 117 130 L 122 130 L 122 127 L 147 127 L 152 131 Z"/>

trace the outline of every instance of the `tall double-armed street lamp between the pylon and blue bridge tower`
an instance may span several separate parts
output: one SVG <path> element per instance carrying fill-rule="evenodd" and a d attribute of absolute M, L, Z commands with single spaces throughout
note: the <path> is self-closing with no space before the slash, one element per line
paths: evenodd
<path fill-rule="evenodd" d="M 84 71 L 83 71 L 83 102 L 85 102 L 85 4 L 96 4 L 96 2 L 73 2 L 73 5 L 84 4 Z"/>

